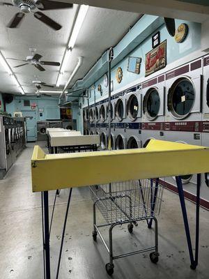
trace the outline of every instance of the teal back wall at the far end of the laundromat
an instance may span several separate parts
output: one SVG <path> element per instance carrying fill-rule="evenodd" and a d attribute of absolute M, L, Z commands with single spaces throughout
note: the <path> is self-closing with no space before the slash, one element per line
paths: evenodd
<path fill-rule="evenodd" d="M 46 119 L 60 119 L 58 99 L 47 98 L 44 96 L 40 96 L 39 98 L 36 96 L 15 96 L 15 99 L 12 103 L 6 104 L 6 112 L 13 115 L 13 112 L 31 110 L 31 106 L 24 106 L 24 100 L 30 100 L 31 103 L 36 103 L 36 121 L 45 121 Z M 42 116 L 40 116 L 40 109 L 43 110 L 43 112 L 41 112 Z"/>

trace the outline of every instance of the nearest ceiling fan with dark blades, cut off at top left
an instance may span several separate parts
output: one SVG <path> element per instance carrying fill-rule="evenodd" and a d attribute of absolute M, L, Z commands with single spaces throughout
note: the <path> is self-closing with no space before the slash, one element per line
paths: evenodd
<path fill-rule="evenodd" d="M 0 5 L 20 8 L 20 12 L 16 13 L 12 20 L 8 23 L 8 28 L 17 28 L 24 19 L 26 13 L 33 13 L 33 16 L 36 17 L 37 20 L 47 24 L 48 27 L 51 27 L 54 30 L 59 30 L 62 26 L 50 17 L 47 17 L 47 15 L 39 11 L 33 12 L 33 10 L 36 8 L 38 8 L 38 10 L 59 10 L 63 8 L 72 8 L 73 6 L 72 3 L 49 0 L 13 0 L 13 3 L 0 2 Z"/>

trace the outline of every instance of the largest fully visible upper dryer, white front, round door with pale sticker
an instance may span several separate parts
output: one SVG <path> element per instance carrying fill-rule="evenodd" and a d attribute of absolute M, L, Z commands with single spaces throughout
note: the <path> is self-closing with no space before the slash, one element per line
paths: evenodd
<path fill-rule="evenodd" d="M 201 121 L 203 59 L 166 73 L 165 121 Z"/>

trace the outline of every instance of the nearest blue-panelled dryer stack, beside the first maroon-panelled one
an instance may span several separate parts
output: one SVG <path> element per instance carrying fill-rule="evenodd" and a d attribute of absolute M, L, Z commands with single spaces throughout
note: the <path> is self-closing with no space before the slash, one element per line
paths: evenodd
<path fill-rule="evenodd" d="M 125 94 L 125 129 L 116 137 L 116 149 L 120 148 L 121 137 L 127 149 L 141 148 L 141 84 Z"/>

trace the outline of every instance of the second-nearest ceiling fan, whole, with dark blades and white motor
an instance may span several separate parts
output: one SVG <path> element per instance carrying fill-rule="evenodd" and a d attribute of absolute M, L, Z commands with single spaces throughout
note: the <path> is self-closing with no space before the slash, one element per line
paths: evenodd
<path fill-rule="evenodd" d="M 47 66 L 60 66 L 59 62 L 52 62 L 52 61 L 40 61 L 40 59 L 42 58 L 42 55 L 36 53 L 36 48 L 29 48 L 31 55 L 30 56 L 26 56 L 26 60 L 20 60 L 20 59 L 15 59 L 15 58 L 7 58 L 7 59 L 11 59 L 11 60 L 15 60 L 15 61 L 22 61 L 22 62 L 26 62 L 20 65 L 15 66 L 14 68 L 19 68 L 25 65 L 33 65 L 35 66 L 38 70 L 40 71 L 45 71 L 45 68 L 43 68 L 41 65 L 47 65 Z"/>

